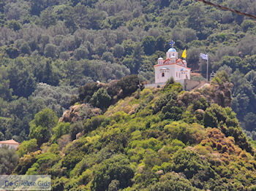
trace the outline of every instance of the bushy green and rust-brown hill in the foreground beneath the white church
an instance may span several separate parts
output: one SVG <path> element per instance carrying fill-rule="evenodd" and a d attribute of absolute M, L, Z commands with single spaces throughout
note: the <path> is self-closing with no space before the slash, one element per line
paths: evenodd
<path fill-rule="evenodd" d="M 115 87 L 98 86 L 91 98 Z M 120 94 L 90 117 L 78 109 L 86 107 L 81 92 L 67 113 L 87 118 L 36 114 L 14 172 L 50 174 L 53 190 L 254 190 L 255 148 L 229 107 L 231 87 L 225 72 L 191 92 L 170 80 Z M 33 134 L 42 117 L 51 129 L 45 140 Z"/>

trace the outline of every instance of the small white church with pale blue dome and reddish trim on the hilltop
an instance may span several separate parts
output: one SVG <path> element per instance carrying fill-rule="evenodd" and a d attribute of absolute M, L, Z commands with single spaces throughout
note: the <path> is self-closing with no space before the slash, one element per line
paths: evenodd
<path fill-rule="evenodd" d="M 174 43 L 173 43 L 174 44 Z M 165 83 L 170 77 L 177 82 L 183 79 L 190 79 L 190 71 L 187 61 L 178 58 L 178 52 L 172 47 L 166 52 L 166 59 L 158 58 L 154 66 L 155 83 Z"/>

